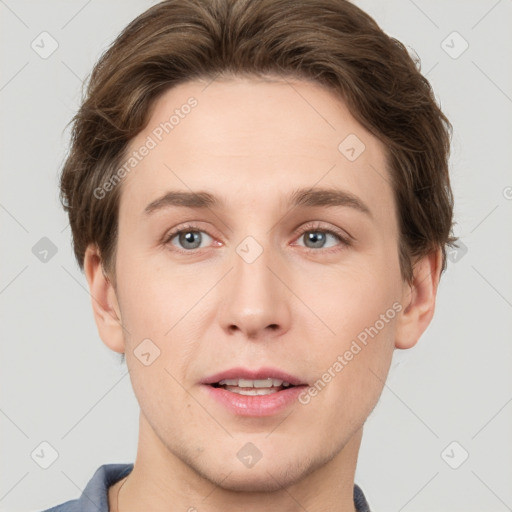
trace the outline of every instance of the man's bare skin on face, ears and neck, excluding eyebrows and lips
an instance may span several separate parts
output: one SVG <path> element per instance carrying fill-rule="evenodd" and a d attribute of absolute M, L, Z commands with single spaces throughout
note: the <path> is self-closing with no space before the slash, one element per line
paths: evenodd
<path fill-rule="evenodd" d="M 411 284 L 403 281 L 385 147 L 331 92 L 282 79 L 205 87 L 168 90 L 131 142 L 140 147 L 197 99 L 122 183 L 115 276 L 105 276 L 94 245 L 85 256 L 100 336 L 126 353 L 141 409 L 135 466 L 110 488 L 110 509 L 354 511 L 364 422 L 393 350 L 412 347 L 431 321 L 441 252 L 416 263 Z M 338 150 L 349 134 L 366 146 L 353 162 Z M 371 216 L 349 206 L 290 209 L 299 187 L 348 191 Z M 207 191 L 225 205 L 145 214 L 168 190 Z M 202 236 L 199 249 L 165 240 L 187 222 Z M 327 234 L 315 246 L 304 236 L 322 229 L 354 241 Z M 247 236 L 263 250 L 252 263 L 236 251 Z M 242 418 L 202 389 L 202 378 L 234 366 L 274 366 L 314 383 L 393 303 L 401 312 L 307 405 Z M 161 351 L 149 366 L 134 354 L 146 338 Z M 236 456 L 247 442 L 262 453 L 250 469 Z"/>

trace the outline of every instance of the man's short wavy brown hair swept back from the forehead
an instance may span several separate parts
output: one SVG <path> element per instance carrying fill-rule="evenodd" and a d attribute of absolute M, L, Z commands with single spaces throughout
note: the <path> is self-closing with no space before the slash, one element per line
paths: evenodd
<path fill-rule="evenodd" d="M 283 76 L 326 86 L 387 148 L 400 231 L 402 276 L 451 236 L 448 158 L 452 126 L 402 43 L 347 0 L 166 0 L 133 20 L 102 55 L 73 118 L 61 176 L 74 252 L 96 243 L 115 274 L 121 187 L 130 140 L 169 88 L 218 76 Z M 341 142 L 341 141 L 340 141 Z"/>

